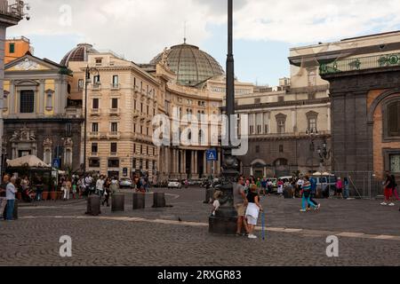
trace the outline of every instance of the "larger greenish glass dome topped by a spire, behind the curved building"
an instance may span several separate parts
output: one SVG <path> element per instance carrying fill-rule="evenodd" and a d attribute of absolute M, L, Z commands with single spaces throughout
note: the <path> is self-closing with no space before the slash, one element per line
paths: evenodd
<path fill-rule="evenodd" d="M 178 83 L 195 87 L 215 76 L 225 75 L 220 63 L 197 46 L 183 43 L 158 54 L 150 64 L 166 60 L 168 67 L 178 75 Z"/>

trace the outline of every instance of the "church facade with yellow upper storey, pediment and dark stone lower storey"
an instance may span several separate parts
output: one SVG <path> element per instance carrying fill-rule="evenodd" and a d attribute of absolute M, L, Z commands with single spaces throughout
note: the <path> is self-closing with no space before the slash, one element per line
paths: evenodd
<path fill-rule="evenodd" d="M 82 108 L 68 99 L 66 67 L 29 54 L 5 67 L 4 147 L 8 159 L 34 154 L 62 169 L 80 169 Z"/>

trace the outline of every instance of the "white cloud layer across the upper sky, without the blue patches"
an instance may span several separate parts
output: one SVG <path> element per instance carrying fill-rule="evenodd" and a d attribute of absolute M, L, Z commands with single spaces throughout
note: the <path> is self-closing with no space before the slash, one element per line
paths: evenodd
<path fill-rule="evenodd" d="M 226 0 L 30 0 L 31 20 L 10 28 L 10 36 L 76 35 L 98 49 L 137 62 L 165 46 L 203 43 L 207 25 L 225 24 Z M 60 7 L 71 6 L 72 25 L 60 25 Z M 244 40 L 316 43 L 398 27 L 398 0 L 235 0 L 235 36 Z M 62 22 L 65 21 L 65 19 Z M 72 47 L 71 47 L 72 48 Z"/>

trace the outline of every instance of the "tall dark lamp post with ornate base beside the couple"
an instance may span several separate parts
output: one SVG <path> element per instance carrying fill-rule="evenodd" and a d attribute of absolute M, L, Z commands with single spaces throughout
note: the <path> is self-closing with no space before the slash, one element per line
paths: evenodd
<path fill-rule="evenodd" d="M 220 209 L 215 216 L 209 218 L 209 232 L 219 234 L 235 234 L 237 214 L 234 208 L 234 183 L 239 176 L 239 162 L 232 154 L 233 146 L 230 133 L 235 130 L 235 70 L 233 56 L 233 0 L 228 0 L 228 58 L 227 58 L 227 115 L 228 115 L 228 146 L 223 146 L 222 177 L 220 190 L 223 198 Z"/>

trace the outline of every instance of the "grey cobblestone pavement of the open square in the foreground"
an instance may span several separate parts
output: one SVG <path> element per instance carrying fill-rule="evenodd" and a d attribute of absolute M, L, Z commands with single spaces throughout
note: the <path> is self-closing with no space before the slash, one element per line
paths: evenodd
<path fill-rule="evenodd" d="M 125 212 L 100 217 L 85 217 L 84 201 L 21 204 L 18 221 L 0 223 L 0 265 L 400 265 L 400 212 L 379 201 L 323 200 L 300 214 L 300 200 L 266 198 L 267 239 L 254 241 L 208 233 L 204 190 L 164 192 L 172 208 L 152 209 L 148 194 L 133 211 L 126 193 Z M 332 233 L 339 257 L 326 256 Z M 59 255 L 62 235 L 72 257 Z"/>

